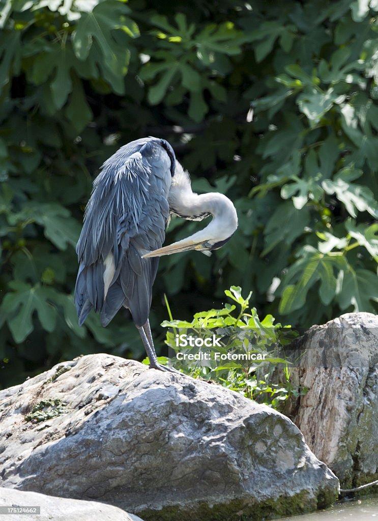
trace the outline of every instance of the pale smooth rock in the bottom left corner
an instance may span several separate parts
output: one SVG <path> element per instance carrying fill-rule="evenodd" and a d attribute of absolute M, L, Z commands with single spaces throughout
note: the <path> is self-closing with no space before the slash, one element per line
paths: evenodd
<path fill-rule="evenodd" d="M 98 501 L 57 498 L 3 487 L 0 487 L 0 506 L 40 507 L 40 514 L 9 514 L 12 521 L 142 521 L 140 517 L 128 514 L 116 506 Z"/>

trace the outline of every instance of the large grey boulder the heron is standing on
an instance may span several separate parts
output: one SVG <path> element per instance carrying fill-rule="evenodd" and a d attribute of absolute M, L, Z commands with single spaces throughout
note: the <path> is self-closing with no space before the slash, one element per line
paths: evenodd
<path fill-rule="evenodd" d="M 282 414 L 115 356 L 84 356 L 1 391 L 0 410 L 5 487 L 170 521 L 315 510 L 338 490 Z"/>

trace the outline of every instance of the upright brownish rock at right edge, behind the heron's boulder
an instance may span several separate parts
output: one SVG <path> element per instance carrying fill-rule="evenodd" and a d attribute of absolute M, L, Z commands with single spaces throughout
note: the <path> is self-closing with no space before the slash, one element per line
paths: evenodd
<path fill-rule="evenodd" d="M 292 379 L 308 387 L 294 421 L 343 488 L 378 479 L 378 317 L 348 313 L 297 342 Z"/>

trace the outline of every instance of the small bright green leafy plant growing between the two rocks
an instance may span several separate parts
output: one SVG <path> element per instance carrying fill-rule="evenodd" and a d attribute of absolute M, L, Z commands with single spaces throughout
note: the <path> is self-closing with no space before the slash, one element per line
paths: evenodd
<path fill-rule="evenodd" d="M 160 357 L 159 362 L 173 363 L 194 378 L 216 381 L 247 398 L 282 409 L 291 396 L 296 398 L 306 393 L 306 389 L 290 382 L 290 362 L 281 354 L 283 347 L 297 333 L 290 326 L 274 324 L 272 315 L 260 320 L 256 308 L 249 305 L 251 292 L 246 299 L 238 286 L 231 286 L 224 293 L 233 304 L 226 303 L 222 309 L 196 313 L 191 322 L 173 319 L 166 297 L 170 319 L 163 321 L 161 326 L 170 328 L 166 334 L 166 344 L 173 350 L 173 357 Z M 222 340 L 215 346 L 206 345 L 205 339 L 215 333 Z M 189 334 L 197 340 L 192 345 L 183 346 L 180 339 L 189 338 Z M 180 358 L 185 356 L 184 362 L 177 359 L 178 353 Z M 278 364 L 283 368 L 284 382 L 272 383 L 269 380 Z"/>

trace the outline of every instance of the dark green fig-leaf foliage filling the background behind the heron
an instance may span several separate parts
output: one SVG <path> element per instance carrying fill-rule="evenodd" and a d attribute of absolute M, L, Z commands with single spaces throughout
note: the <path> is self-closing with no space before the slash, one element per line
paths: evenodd
<path fill-rule="evenodd" d="M 210 258 L 162 259 L 157 339 L 164 292 L 182 319 L 231 284 L 294 326 L 376 311 L 376 2 L 0 9 L 0 387 L 81 353 L 143 356 L 126 312 L 79 328 L 72 292 L 93 178 L 146 135 L 167 139 L 195 190 L 227 194 L 240 219 Z M 174 219 L 167 242 L 197 226 Z"/>

